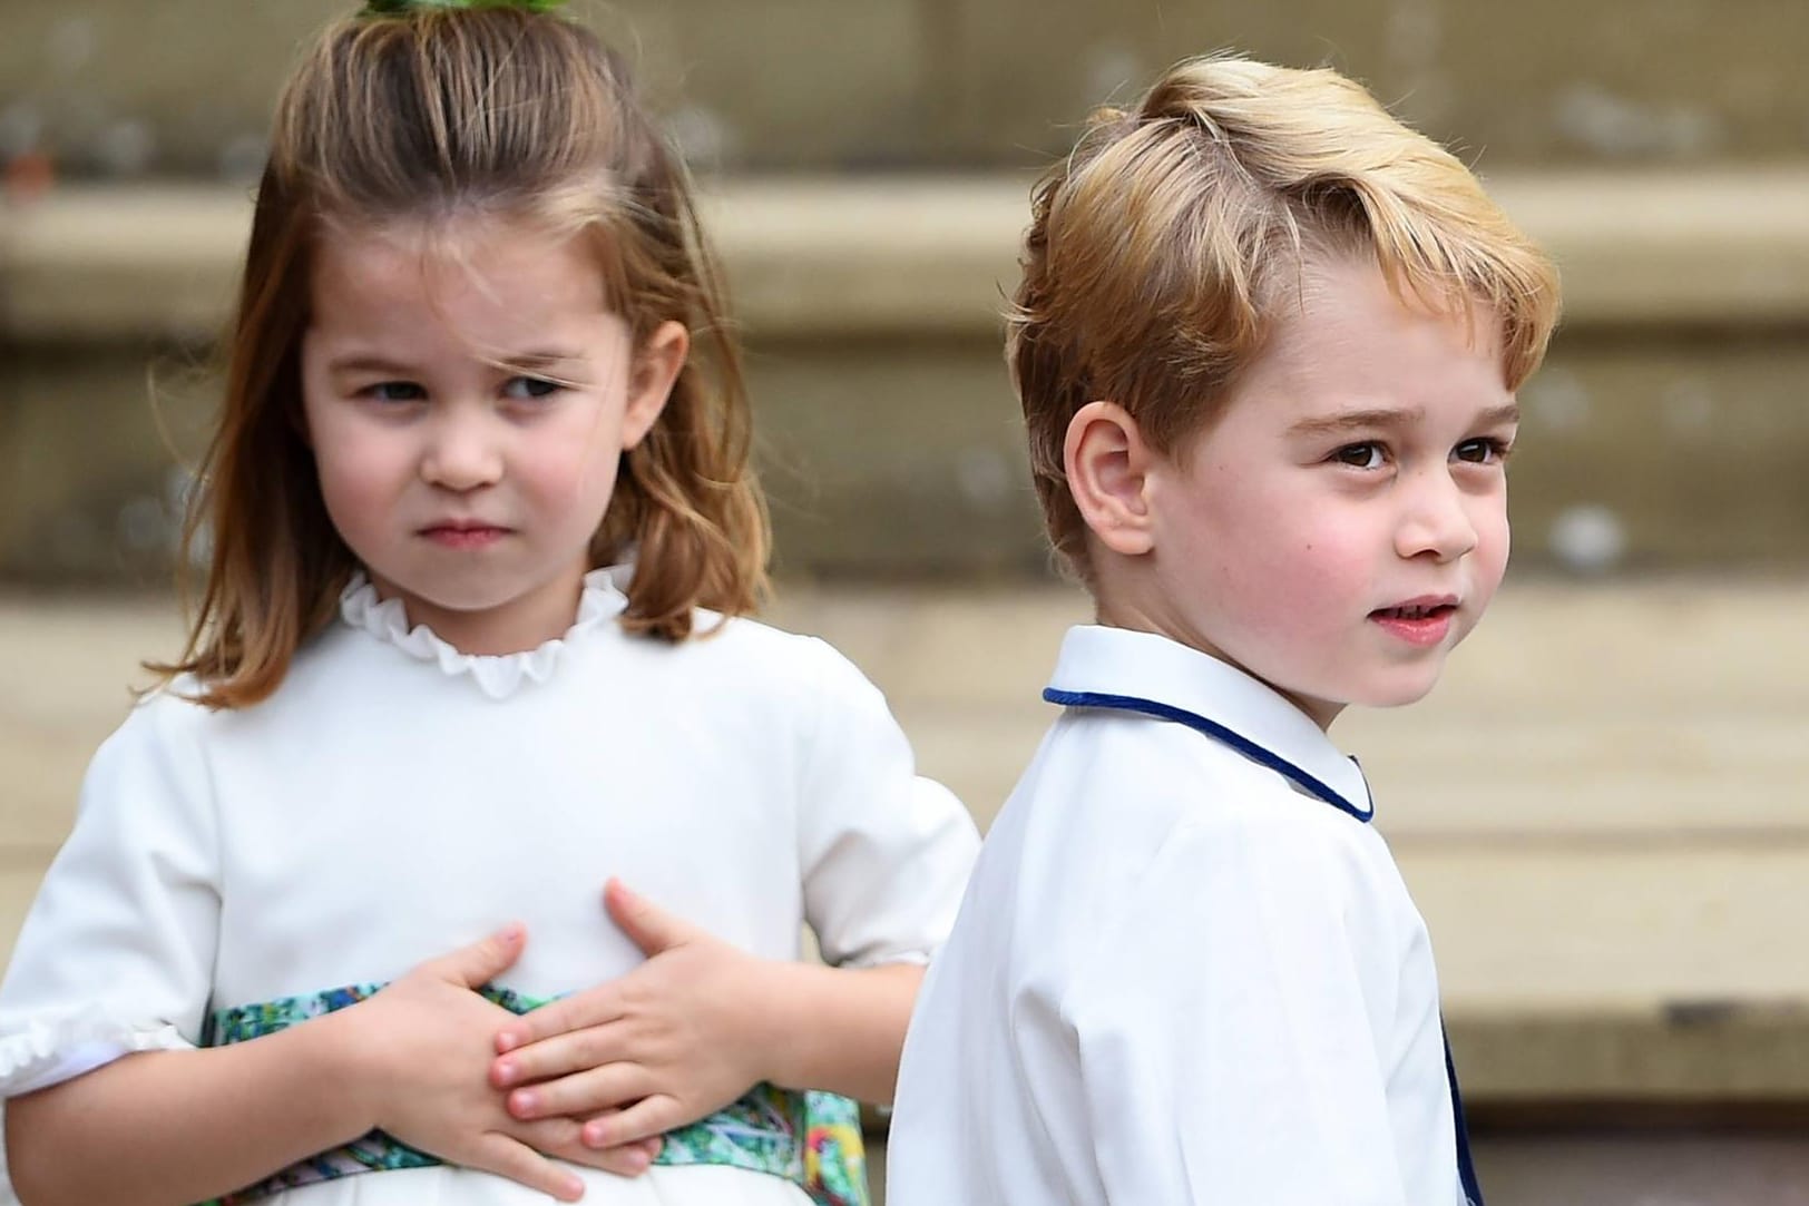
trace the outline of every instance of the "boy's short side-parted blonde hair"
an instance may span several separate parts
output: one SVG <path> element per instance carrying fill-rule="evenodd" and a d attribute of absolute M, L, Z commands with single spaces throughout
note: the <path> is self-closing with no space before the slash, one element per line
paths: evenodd
<path fill-rule="evenodd" d="M 1214 56 L 1100 110 L 1037 186 L 1006 360 L 1056 553 L 1091 580 L 1064 443 L 1089 401 L 1163 454 L 1203 430 L 1313 257 L 1373 255 L 1424 306 L 1500 320 L 1509 389 L 1558 320 L 1550 260 L 1449 152 L 1330 69 Z"/>

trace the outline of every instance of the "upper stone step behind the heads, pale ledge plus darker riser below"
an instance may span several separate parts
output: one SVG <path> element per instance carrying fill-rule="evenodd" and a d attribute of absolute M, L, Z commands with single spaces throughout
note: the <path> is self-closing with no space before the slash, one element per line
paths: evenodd
<path fill-rule="evenodd" d="M 1568 293 L 1523 391 L 1521 561 L 1809 566 L 1809 168 L 1496 190 Z M 997 318 L 1026 195 L 1009 177 L 713 192 L 787 573 L 1044 571 Z M 165 580 L 246 221 L 224 188 L 0 206 L 0 579 Z"/>

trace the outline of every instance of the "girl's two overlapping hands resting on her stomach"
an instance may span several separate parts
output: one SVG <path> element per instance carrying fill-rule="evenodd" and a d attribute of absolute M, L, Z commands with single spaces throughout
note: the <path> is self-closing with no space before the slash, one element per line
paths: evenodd
<path fill-rule="evenodd" d="M 646 1172 L 660 1135 L 774 1079 L 781 1051 L 763 985 L 783 967 L 635 895 L 604 890 L 610 919 L 648 962 L 526 1014 L 476 989 L 526 949 L 512 924 L 414 967 L 336 1014 L 367 1070 L 373 1126 L 452 1164 L 570 1199 L 559 1157 L 624 1177 Z M 472 1056 L 494 1051 L 487 1074 Z"/>

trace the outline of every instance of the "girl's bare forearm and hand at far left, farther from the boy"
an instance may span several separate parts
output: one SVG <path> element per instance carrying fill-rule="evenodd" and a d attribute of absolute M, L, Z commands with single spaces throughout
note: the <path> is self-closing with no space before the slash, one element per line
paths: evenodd
<path fill-rule="evenodd" d="M 512 1014 L 470 989 L 514 964 L 523 940 L 514 926 L 304 1025 L 125 1056 L 9 1101 L 20 1199 L 183 1206 L 382 1126 L 449 1163 L 575 1201 L 577 1175 L 535 1148 L 579 1148 L 577 1123 L 525 1125 L 483 1083 L 485 1051 Z"/>

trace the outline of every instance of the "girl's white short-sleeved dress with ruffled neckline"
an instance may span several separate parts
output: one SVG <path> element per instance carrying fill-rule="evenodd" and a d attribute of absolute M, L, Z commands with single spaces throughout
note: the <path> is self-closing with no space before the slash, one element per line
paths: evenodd
<path fill-rule="evenodd" d="M 384 984 L 507 920 L 528 931 L 514 993 L 620 976 L 642 956 L 602 913 L 611 875 L 760 956 L 796 958 L 809 922 L 830 964 L 926 962 L 977 835 L 879 691 L 751 620 L 630 636 L 622 573 L 590 573 L 564 638 L 510 656 L 409 631 L 358 580 L 268 702 L 134 709 L 0 985 L 0 1098 L 195 1045 L 215 1011 Z M 738 1168 L 579 1172 L 592 1206 L 809 1201 Z M 546 1199 L 432 1166 L 270 1201 Z"/>

